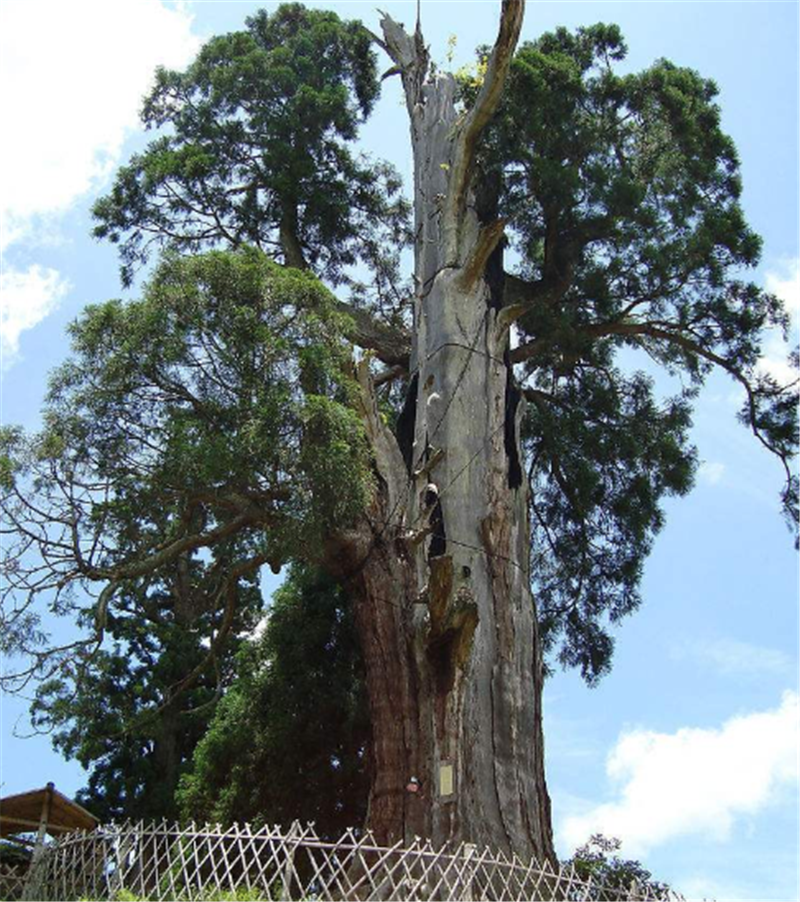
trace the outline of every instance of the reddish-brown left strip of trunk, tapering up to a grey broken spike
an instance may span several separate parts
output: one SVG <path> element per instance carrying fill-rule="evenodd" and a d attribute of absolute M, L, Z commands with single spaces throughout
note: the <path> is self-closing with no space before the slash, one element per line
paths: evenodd
<path fill-rule="evenodd" d="M 366 362 L 359 367 L 359 379 L 376 491 L 361 522 L 331 539 L 326 563 L 348 587 L 355 608 L 372 727 L 367 819 L 376 836 L 391 844 L 409 833 L 427 833 L 425 806 L 405 788 L 409 777 L 421 771 L 426 747 L 420 735 L 423 689 L 413 651 L 412 611 L 419 592 L 402 525 L 408 494 L 405 464 L 378 411 Z"/>

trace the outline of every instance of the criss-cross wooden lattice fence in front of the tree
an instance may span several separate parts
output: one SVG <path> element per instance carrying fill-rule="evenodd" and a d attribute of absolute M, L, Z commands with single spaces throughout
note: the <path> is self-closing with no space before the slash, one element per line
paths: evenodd
<path fill-rule="evenodd" d="M 206 902 L 425 900 L 533 902 L 636 899 L 678 902 L 671 890 L 604 886 L 573 867 L 522 861 L 471 843 L 434 847 L 416 839 L 382 846 L 370 833 L 320 837 L 313 824 L 110 824 L 41 850 L 22 874 L 0 872 L 0 898 Z"/>

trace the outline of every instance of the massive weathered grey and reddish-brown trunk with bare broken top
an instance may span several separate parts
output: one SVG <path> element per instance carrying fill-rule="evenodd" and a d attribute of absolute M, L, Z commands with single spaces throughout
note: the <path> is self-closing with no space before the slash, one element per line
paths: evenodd
<path fill-rule="evenodd" d="M 381 23 L 414 150 L 411 381 L 395 439 L 362 368 L 378 491 L 337 555 L 366 660 L 368 826 L 387 842 L 423 835 L 553 859 L 503 223 L 475 166 L 522 11 L 521 0 L 503 3 L 483 87 L 461 117 L 452 76 L 429 75 L 419 25 L 409 35 Z"/>

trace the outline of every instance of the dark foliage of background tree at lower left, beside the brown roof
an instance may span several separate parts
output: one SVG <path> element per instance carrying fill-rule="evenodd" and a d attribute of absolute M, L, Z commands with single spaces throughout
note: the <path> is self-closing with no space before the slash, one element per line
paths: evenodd
<path fill-rule="evenodd" d="M 101 822 L 177 819 L 178 778 L 206 732 L 219 683 L 232 679 L 239 634 L 255 625 L 261 592 L 250 576 L 237 591 L 234 635 L 216 668 L 201 667 L 203 637 L 219 617 L 205 599 L 191 597 L 203 566 L 184 558 L 146 590 L 138 587 L 139 597 L 129 596 L 131 587 L 120 592 L 107 615 L 105 647 L 82 668 L 66 666 L 37 686 L 33 726 L 88 772 L 76 798 Z M 198 667 L 196 682 L 178 692 Z"/>

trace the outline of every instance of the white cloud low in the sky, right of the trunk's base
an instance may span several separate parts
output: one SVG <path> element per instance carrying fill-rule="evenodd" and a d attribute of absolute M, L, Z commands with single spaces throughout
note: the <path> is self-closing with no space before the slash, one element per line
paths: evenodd
<path fill-rule="evenodd" d="M 752 815 L 798 780 L 798 696 L 728 720 L 719 729 L 623 733 L 606 761 L 616 801 L 565 819 L 562 848 L 592 833 L 623 840 L 627 855 L 687 834 L 724 841 L 734 820 Z"/>

